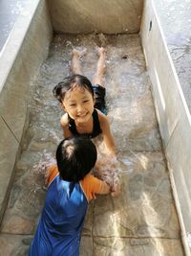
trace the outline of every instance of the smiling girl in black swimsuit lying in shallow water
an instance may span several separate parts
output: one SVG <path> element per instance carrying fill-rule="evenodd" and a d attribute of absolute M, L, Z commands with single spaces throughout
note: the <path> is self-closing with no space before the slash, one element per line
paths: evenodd
<path fill-rule="evenodd" d="M 59 82 L 53 88 L 53 95 L 61 103 L 62 108 L 66 112 L 61 117 L 64 137 L 68 138 L 73 135 L 82 134 L 92 139 L 102 134 L 103 142 L 106 146 L 105 155 L 109 153 L 109 162 L 113 162 L 113 168 L 117 169 L 116 146 L 111 134 L 109 121 L 105 115 L 105 87 L 103 82 L 106 70 L 105 49 L 103 47 L 98 48 L 99 58 L 97 61 L 96 75 L 93 80 L 94 85 L 86 77 L 81 75 L 79 58 L 84 54 L 86 54 L 86 50 L 82 52 L 73 51 L 71 65 L 73 75 L 65 78 L 64 81 Z M 108 182 L 111 185 L 113 183 L 113 196 L 117 196 L 119 194 L 117 174 L 114 171 L 108 173 L 108 170 L 106 170 L 105 174 L 102 174 L 101 170 L 98 172 L 100 169 L 98 165 L 97 163 L 97 176 L 101 178 L 101 175 L 103 175 L 104 180 L 108 177 Z"/>

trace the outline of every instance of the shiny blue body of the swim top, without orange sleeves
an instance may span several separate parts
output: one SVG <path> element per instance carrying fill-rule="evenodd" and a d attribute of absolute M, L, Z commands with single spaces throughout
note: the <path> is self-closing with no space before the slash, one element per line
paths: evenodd
<path fill-rule="evenodd" d="M 78 256 L 88 200 L 79 183 L 56 175 L 28 256 Z"/>

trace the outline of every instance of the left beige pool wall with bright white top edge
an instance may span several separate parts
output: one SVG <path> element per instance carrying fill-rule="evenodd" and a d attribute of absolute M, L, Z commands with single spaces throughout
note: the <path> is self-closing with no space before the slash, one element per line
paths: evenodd
<path fill-rule="evenodd" d="M 32 81 L 47 58 L 53 30 L 45 1 L 32 1 L 18 16 L 0 54 L 0 221 L 20 151 Z M 41 36 L 43 35 L 43 36 Z"/>

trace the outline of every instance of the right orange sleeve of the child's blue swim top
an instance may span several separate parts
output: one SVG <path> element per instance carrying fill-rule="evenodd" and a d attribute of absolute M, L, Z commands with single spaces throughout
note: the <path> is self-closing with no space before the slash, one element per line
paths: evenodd
<path fill-rule="evenodd" d="M 102 189 L 103 181 L 96 178 L 94 175 L 86 175 L 80 181 L 81 187 L 88 200 L 95 198 L 95 194 L 99 194 Z"/>

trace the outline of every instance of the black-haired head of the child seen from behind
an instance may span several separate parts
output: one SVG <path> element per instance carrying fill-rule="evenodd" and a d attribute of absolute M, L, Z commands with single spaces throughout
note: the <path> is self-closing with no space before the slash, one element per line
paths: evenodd
<path fill-rule="evenodd" d="M 57 147 L 56 161 L 62 179 L 78 182 L 95 166 L 96 146 L 85 136 L 64 139 Z"/>

